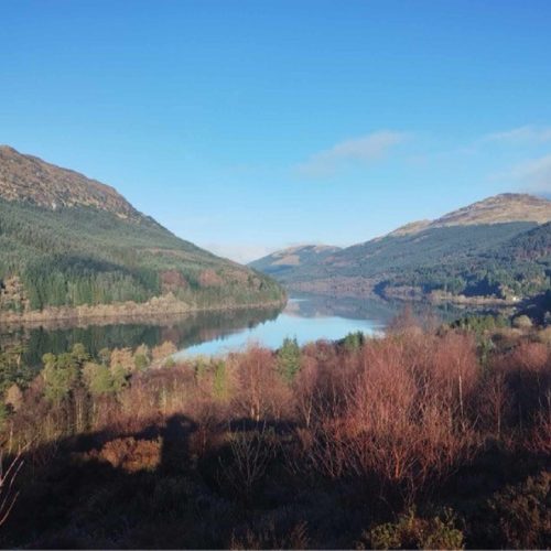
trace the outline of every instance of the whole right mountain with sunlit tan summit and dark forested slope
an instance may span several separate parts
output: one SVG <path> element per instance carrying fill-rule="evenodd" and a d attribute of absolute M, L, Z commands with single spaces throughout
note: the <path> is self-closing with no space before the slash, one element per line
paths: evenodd
<path fill-rule="evenodd" d="M 271 273 L 301 291 L 517 301 L 549 289 L 550 220 L 550 201 L 503 194 Z"/>

